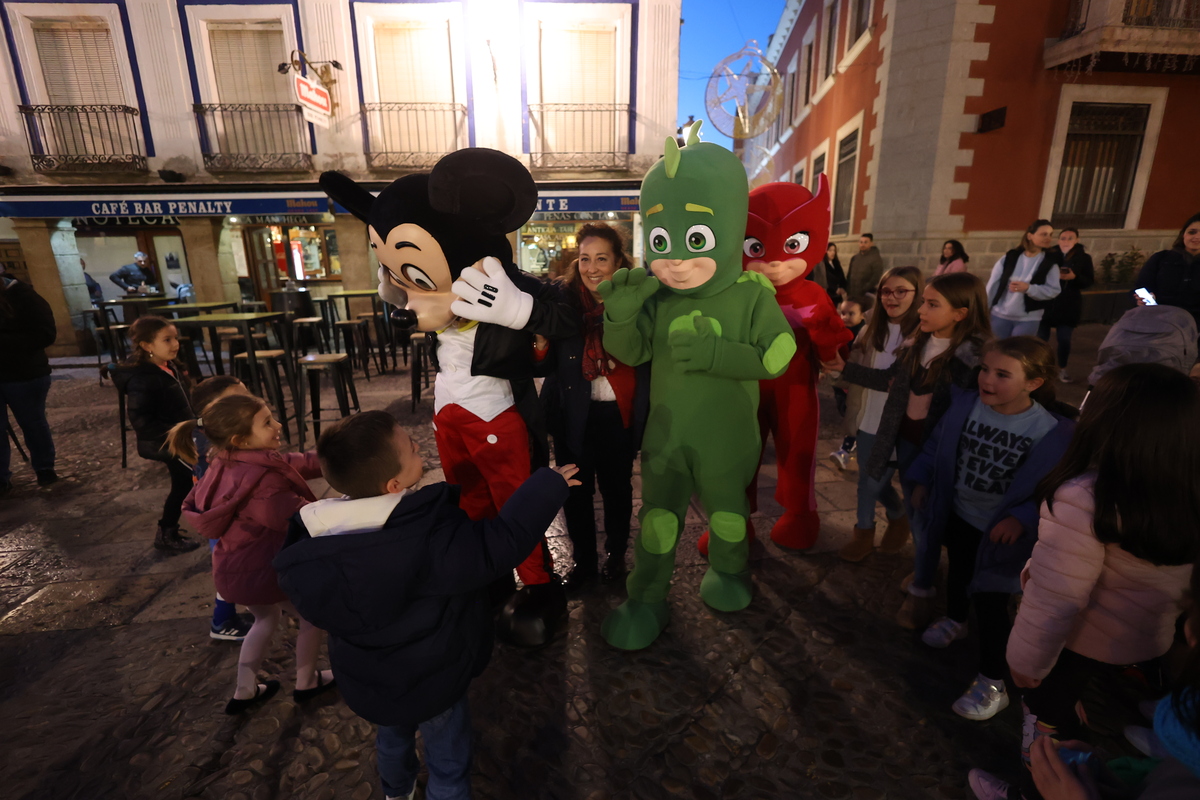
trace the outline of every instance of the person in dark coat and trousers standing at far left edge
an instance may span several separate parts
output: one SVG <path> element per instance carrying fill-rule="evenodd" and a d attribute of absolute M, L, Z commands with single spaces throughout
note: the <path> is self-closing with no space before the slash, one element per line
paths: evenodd
<path fill-rule="evenodd" d="M 46 348 L 58 331 L 50 303 L 34 287 L 0 275 L 0 495 L 12 489 L 8 409 L 20 426 L 30 462 L 41 486 L 59 480 L 54 471 L 54 439 L 46 420 L 50 362 Z"/>

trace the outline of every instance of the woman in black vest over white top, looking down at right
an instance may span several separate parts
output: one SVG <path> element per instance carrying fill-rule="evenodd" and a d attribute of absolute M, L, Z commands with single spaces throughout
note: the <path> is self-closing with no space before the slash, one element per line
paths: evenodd
<path fill-rule="evenodd" d="M 988 302 L 991 330 L 997 339 L 1009 336 L 1033 336 L 1042 314 L 1058 296 L 1060 255 L 1050 249 L 1054 225 L 1049 219 L 1034 219 L 1021 236 L 1019 247 L 1004 253 L 988 278 Z"/>

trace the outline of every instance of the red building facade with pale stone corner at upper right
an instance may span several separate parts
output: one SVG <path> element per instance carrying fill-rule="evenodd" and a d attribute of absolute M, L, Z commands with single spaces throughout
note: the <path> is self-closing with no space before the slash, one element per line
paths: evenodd
<path fill-rule="evenodd" d="M 1037 218 L 1153 252 L 1200 211 L 1194 2 L 788 0 L 767 58 L 784 112 L 746 168 L 826 173 L 844 263 L 871 231 L 889 266 L 959 239 L 986 272 Z"/>

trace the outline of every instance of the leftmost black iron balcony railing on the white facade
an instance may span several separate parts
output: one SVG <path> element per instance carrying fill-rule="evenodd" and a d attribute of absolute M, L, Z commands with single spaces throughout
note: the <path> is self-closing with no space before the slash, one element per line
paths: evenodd
<path fill-rule="evenodd" d="M 145 172 L 138 109 L 128 106 L 18 106 L 40 173 Z"/>

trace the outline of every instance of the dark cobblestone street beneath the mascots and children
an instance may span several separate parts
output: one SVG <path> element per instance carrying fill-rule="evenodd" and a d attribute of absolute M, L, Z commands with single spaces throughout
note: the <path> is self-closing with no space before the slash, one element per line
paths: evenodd
<path fill-rule="evenodd" d="M 1078 378 L 1104 331 L 1080 327 Z M 238 645 L 208 636 L 209 552 L 151 548 L 166 471 L 132 445 L 121 469 L 116 391 L 94 368 L 55 378 L 49 419 L 65 480 L 38 489 L 14 452 L 16 487 L 0 500 L 0 794 L 382 798 L 373 727 L 336 693 L 292 702 L 294 634 L 264 663 L 280 694 L 242 717 L 222 714 Z M 430 392 L 413 415 L 407 372 L 356 383 L 365 409 L 388 408 L 413 432 L 426 480 L 439 480 Z M 1078 404 L 1082 391 L 1061 395 Z M 840 439 L 832 397 L 823 403 L 822 456 Z M 976 672 L 973 637 L 935 651 L 893 622 L 911 546 L 858 565 L 838 559 L 856 474 L 818 464 L 821 541 L 785 552 L 767 539 L 779 513 L 770 451 L 767 461 L 749 609 L 701 602 L 704 522 L 692 511 L 671 624 L 649 649 L 626 654 L 600 638 L 619 585 L 572 600 L 569 632 L 550 646 L 497 646 L 470 694 L 478 798 L 959 799 L 971 766 L 1016 768 L 1019 703 L 985 723 L 950 711 Z M 565 572 L 565 533 L 552 535 Z"/>

